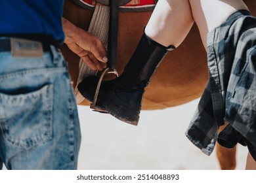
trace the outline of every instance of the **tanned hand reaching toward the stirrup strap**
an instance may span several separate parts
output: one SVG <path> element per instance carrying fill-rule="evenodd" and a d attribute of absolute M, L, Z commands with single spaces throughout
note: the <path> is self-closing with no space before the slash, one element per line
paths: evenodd
<path fill-rule="evenodd" d="M 106 67 L 108 58 L 106 49 L 95 35 L 76 27 L 62 18 L 65 33 L 65 43 L 68 48 L 77 54 L 91 69 L 101 71 Z"/>

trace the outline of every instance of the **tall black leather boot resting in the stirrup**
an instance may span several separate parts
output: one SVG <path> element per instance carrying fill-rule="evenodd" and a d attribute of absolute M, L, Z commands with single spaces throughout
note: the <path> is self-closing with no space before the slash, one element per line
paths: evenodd
<path fill-rule="evenodd" d="M 161 60 L 169 50 L 175 46 L 165 47 L 153 41 L 145 34 L 130 59 L 121 76 L 102 83 L 99 93 L 100 105 L 117 119 L 129 124 L 137 125 L 142 105 L 144 88 L 156 71 Z M 85 78 L 79 84 L 79 92 L 90 101 L 93 99 L 96 84 L 93 80 Z M 93 82 L 92 82 L 93 81 Z"/>

